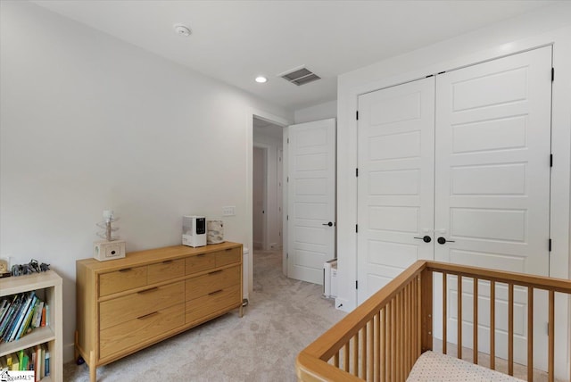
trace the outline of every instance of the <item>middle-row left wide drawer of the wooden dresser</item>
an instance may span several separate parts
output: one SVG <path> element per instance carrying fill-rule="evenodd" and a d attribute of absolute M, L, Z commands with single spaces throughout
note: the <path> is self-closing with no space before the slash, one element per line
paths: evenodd
<path fill-rule="evenodd" d="M 99 329 L 111 328 L 184 301 L 185 282 L 145 289 L 99 303 Z"/>

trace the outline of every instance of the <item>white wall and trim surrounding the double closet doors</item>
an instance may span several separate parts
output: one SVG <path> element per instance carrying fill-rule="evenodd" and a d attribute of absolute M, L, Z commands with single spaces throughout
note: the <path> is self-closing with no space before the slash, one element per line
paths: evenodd
<path fill-rule="evenodd" d="M 434 46 L 393 57 L 339 77 L 337 121 L 337 257 L 338 294 L 335 306 L 351 311 L 357 302 L 357 121 L 358 95 L 390 87 L 440 71 L 483 62 L 538 46 L 553 45 L 555 81 L 552 96 L 551 221 L 553 249 L 550 276 L 569 278 L 569 175 L 571 172 L 571 3 L 560 3 L 510 21 L 455 37 Z M 559 158 L 559 159 L 556 159 Z M 557 245 L 555 245 L 557 243 Z M 565 317 L 566 303 L 558 305 Z M 561 315 L 559 315 L 561 314 Z M 559 320 L 558 333 L 568 337 L 569 320 Z M 561 345 L 561 344 L 559 344 Z M 558 345 L 558 346 L 559 346 Z M 560 357 L 569 359 L 569 345 Z M 556 373 L 568 373 L 559 363 Z"/>

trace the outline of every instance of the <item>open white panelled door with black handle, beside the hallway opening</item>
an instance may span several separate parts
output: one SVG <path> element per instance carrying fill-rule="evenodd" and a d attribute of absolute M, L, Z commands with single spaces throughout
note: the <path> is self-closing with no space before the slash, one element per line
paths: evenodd
<path fill-rule="evenodd" d="M 288 129 L 287 276 L 322 284 L 335 257 L 335 119 Z"/>

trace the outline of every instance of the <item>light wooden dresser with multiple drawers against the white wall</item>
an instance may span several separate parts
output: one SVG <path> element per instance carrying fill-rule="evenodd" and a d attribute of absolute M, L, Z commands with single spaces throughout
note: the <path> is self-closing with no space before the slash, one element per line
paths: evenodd
<path fill-rule="evenodd" d="M 96 368 L 239 308 L 242 245 L 184 245 L 76 263 L 76 358 Z"/>

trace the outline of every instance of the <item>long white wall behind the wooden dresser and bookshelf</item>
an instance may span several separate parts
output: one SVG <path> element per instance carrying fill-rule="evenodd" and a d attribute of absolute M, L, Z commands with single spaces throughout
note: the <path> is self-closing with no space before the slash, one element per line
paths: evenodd
<path fill-rule="evenodd" d="M 0 255 L 62 275 L 70 361 L 75 262 L 102 211 L 131 252 L 235 205 L 225 237 L 251 247 L 252 112 L 293 114 L 35 4 L 2 1 L 0 24 Z"/>

